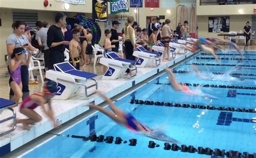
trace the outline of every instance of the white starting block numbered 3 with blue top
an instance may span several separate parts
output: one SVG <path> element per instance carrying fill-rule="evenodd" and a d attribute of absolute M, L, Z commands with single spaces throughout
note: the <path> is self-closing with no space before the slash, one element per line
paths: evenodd
<path fill-rule="evenodd" d="M 130 77 L 137 74 L 136 61 L 120 58 L 115 52 L 104 53 L 105 58 L 100 58 L 99 63 L 109 67 L 103 75 L 103 79 L 116 79 L 122 76 L 125 70 L 130 69 Z M 135 74 L 132 75 L 132 72 Z"/>

